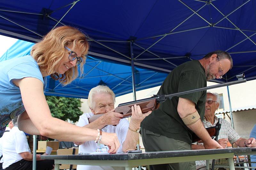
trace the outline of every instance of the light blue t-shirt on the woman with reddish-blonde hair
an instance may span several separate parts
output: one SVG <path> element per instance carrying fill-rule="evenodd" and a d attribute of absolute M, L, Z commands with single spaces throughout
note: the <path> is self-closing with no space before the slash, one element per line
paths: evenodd
<path fill-rule="evenodd" d="M 13 79 L 34 77 L 44 83 L 36 61 L 30 55 L 0 62 L 0 137 L 6 125 L 25 111 L 22 103 L 20 88 L 13 84 Z"/>

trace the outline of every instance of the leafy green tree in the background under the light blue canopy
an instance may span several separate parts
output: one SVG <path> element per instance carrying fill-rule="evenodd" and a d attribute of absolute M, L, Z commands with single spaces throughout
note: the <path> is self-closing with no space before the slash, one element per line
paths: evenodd
<path fill-rule="evenodd" d="M 45 96 L 52 113 L 52 117 L 66 121 L 67 119 L 76 122 L 83 114 L 80 110 L 82 101 L 77 98 Z"/>

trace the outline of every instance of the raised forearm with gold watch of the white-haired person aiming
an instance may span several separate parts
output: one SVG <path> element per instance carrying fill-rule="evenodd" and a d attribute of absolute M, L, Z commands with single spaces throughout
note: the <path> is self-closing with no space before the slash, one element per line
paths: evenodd
<path fill-rule="evenodd" d="M 136 130 L 140 128 L 140 124 L 133 124 L 132 122 L 130 122 L 129 127 L 132 130 Z M 123 143 L 123 152 L 134 150 L 136 148 L 138 140 L 139 140 L 139 133 L 128 129 L 125 141 Z"/>

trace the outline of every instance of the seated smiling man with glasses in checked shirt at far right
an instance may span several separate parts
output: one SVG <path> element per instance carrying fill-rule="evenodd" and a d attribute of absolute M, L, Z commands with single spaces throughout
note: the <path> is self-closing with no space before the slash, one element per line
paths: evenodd
<path fill-rule="evenodd" d="M 219 108 L 220 104 L 220 96 L 218 93 L 211 93 L 207 92 L 206 94 L 206 102 L 205 102 L 205 113 L 203 124 L 205 127 L 212 127 L 217 124 L 219 121 L 218 118 L 215 116 L 215 111 Z M 256 140 L 255 138 L 244 139 L 241 138 L 236 131 L 232 128 L 231 124 L 228 121 L 220 118 L 220 133 L 218 136 L 218 143 L 223 147 L 226 148 L 227 143 L 230 142 L 231 144 L 235 143 L 239 147 L 256 147 Z M 192 149 L 204 149 L 203 143 L 197 143 L 197 145 L 192 145 Z M 210 160 L 210 164 L 212 161 Z M 228 160 L 226 159 L 216 159 L 215 165 L 218 164 L 227 164 Z M 206 161 L 196 161 L 196 169 L 197 170 L 206 170 Z M 217 168 L 214 168 L 217 169 Z M 224 168 L 222 168 L 224 169 Z"/>

